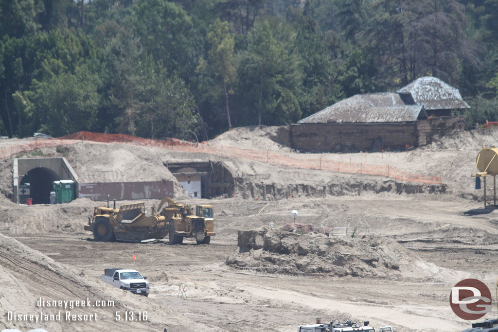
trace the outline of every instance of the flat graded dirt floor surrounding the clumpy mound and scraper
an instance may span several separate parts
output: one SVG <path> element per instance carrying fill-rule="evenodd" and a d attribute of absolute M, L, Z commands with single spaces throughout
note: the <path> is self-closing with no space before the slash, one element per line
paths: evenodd
<path fill-rule="evenodd" d="M 296 199 L 271 202 L 260 214 L 266 202 L 209 202 L 214 204 L 217 218 L 217 236 L 210 245 L 198 246 L 191 240 L 173 246 L 167 240 L 97 242 L 76 227 L 71 232 L 14 237 L 58 263 L 84 271 L 96 282 L 104 268 L 138 269 L 152 285 L 149 298 L 141 299 L 142 310 L 158 312 L 155 307 L 161 303 L 189 322 L 223 331 L 294 331 L 317 317 L 368 320 L 374 327 L 392 325 L 396 331 L 461 331 L 468 324 L 451 312 L 451 286 L 466 277 L 494 283 L 496 213 L 465 216 L 475 204 L 463 200 L 378 199 L 374 195 Z M 49 208 L 34 207 L 39 214 Z M 429 278 L 421 271 L 420 278 L 413 275 L 399 280 L 271 275 L 225 264 L 228 256 L 238 252 L 238 229 L 281 222 L 294 209 L 299 210 L 301 222 L 345 225 L 350 231 L 356 227 L 357 236 L 394 237 L 422 261 L 437 267 Z M 178 296 L 181 285 L 187 299 Z"/>

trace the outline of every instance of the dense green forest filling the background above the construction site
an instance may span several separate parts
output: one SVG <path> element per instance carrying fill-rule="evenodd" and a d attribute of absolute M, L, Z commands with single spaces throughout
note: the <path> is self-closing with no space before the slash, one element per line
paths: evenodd
<path fill-rule="evenodd" d="M 421 76 L 498 120 L 498 0 L 0 0 L 0 134 L 205 140 Z"/>

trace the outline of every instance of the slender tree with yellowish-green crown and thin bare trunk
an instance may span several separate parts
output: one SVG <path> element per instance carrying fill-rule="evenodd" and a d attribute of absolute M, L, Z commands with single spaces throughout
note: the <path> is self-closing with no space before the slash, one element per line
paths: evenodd
<path fill-rule="evenodd" d="M 208 41 L 211 49 L 208 52 L 208 62 L 201 58 L 197 67 L 198 72 L 207 73 L 211 71 L 218 81 L 223 84 L 225 93 L 225 104 L 227 109 L 227 121 L 229 129 L 232 128 L 230 121 L 230 109 L 228 105 L 228 95 L 233 93 L 227 90 L 227 84 L 231 84 L 236 79 L 236 69 L 234 62 L 234 37 L 230 34 L 228 23 L 222 22 L 219 18 L 213 24 L 211 31 L 208 33 Z"/>

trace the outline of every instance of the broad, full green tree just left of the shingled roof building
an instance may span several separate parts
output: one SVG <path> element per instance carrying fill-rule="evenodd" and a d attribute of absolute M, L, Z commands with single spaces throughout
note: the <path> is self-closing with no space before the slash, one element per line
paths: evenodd
<path fill-rule="evenodd" d="M 239 77 L 244 77 L 239 87 L 243 94 L 241 102 L 257 110 L 258 125 L 262 118 L 266 124 L 284 124 L 296 121 L 302 114 L 296 103 L 302 86 L 302 69 L 299 58 L 287 50 L 293 43 L 292 32 L 282 21 L 273 24 L 270 27 L 268 21 L 263 21 L 255 26 L 249 36 L 248 51 L 241 60 Z M 280 34 L 281 39 L 277 40 L 274 34 Z"/>

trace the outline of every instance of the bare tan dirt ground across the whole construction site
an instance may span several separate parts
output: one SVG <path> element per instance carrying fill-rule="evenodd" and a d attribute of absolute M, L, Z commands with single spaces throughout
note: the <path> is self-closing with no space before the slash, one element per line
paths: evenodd
<path fill-rule="evenodd" d="M 248 148 L 259 147 L 262 153 L 317 157 L 274 142 L 275 130 L 235 129 L 208 144 L 241 147 L 249 142 Z M 88 198 L 52 206 L 16 205 L 8 197 L 14 155 L 4 159 L 0 169 L 4 194 L 0 198 L 0 282 L 4 286 L 0 305 L 5 313 L 0 329 L 284 332 L 296 331 L 316 318 L 327 322 L 338 318 L 370 321 L 375 328 L 391 325 L 400 332 L 462 331 L 470 323 L 452 312 L 451 287 L 466 278 L 482 280 L 490 288 L 496 285 L 498 211 L 482 209 L 482 190 L 474 189 L 470 175 L 482 145 L 491 146 L 497 138 L 496 129 L 463 131 L 413 152 L 323 155 L 344 163 L 367 158 L 372 165 L 389 163 L 409 173 L 441 177 L 444 188 L 434 185 L 434 190 L 429 190 L 432 184 L 384 176 L 277 167 L 122 143 L 68 145 L 66 158 L 86 181 L 92 177 L 109 181 L 106 176 L 132 181 L 135 175 L 171 180 L 166 161 L 223 161 L 236 179 L 246 181 L 237 184 L 235 197 L 227 193 L 198 200 L 175 192 L 175 200 L 184 204 L 213 206 L 216 236 L 209 245 L 197 245 L 193 238 L 177 245 L 169 245 L 167 238 L 148 243 L 95 241 L 83 226 L 94 207 L 107 202 Z M 16 139 L 15 144 L 29 141 Z M 41 150 L 45 156 L 58 154 L 55 147 Z M 107 156 L 107 165 L 88 158 L 99 154 Z M 127 167 L 129 162 L 141 165 Z M 151 173 L 142 174 L 149 164 Z M 116 166 L 117 171 L 108 172 L 106 166 L 111 171 Z M 288 190 L 271 196 L 267 192 L 264 199 L 259 194 L 254 197 L 257 187 L 252 186 L 251 193 L 249 183 L 274 183 Z M 296 184 L 302 185 L 297 191 Z M 306 186 L 320 189 L 327 184 L 340 187 L 315 193 L 306 190 Z M 400 186 L 419 189 L 399 190 Z M 145 210 L 158 202 L 146 200 Z M 286 225 L 294 221 L 293 210 L 299 212 L 296 223 L 311 224 L 313 229 L 346 227 L 348 233 L 327 237 L 320 232 L 309 234 L 308 229 L 289 231 Z M 259 246 L 238 246 L 240 231 L 250 229 L 264 229 L 261 238 L 254 239 Z M 147 276 L 149 297 L 107 287 L 100 280 L 105 268 L 118 267 Z M 66 311 L 39 308 L 40 298 L 114 302 L 105 308 L 71 310 L 76 315 L 95 312 L 101 318 L 97 322 L 8 320 L 7 312 Z M 116 312 L 130 311 L 147 312 L 147 320 L 116 319 Z M 497 315 L 493 306 L 485 318 Z"/>

